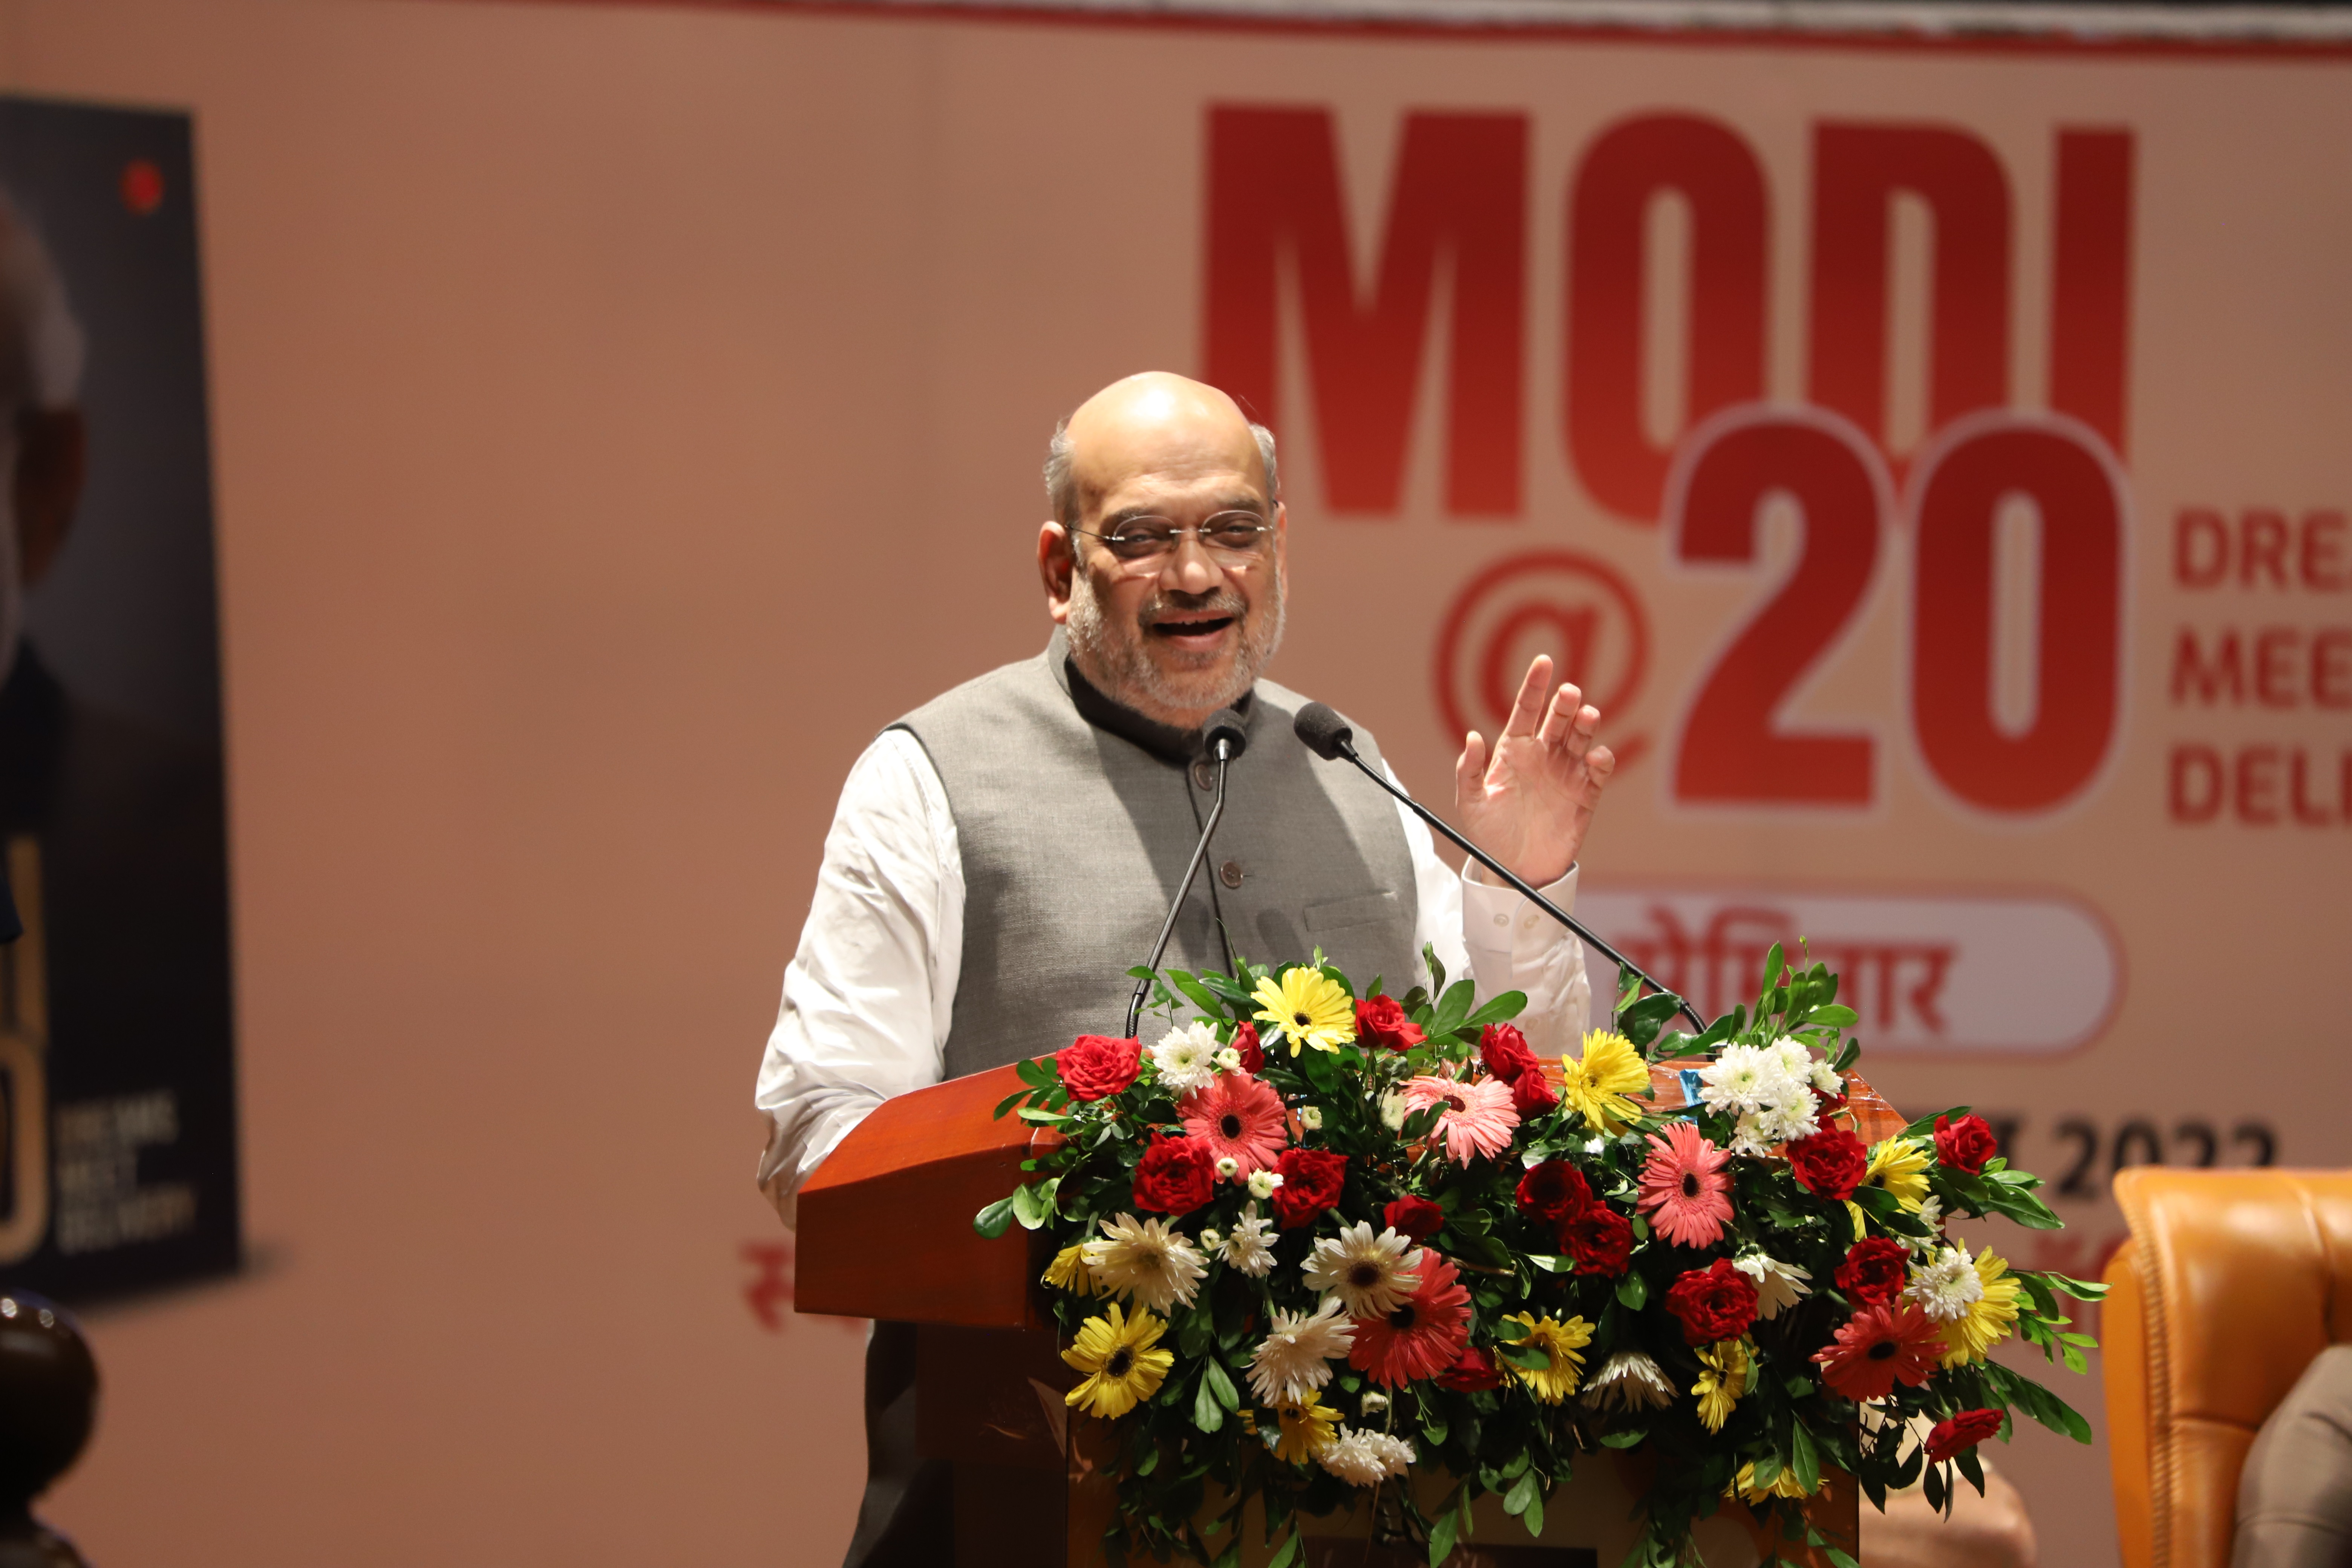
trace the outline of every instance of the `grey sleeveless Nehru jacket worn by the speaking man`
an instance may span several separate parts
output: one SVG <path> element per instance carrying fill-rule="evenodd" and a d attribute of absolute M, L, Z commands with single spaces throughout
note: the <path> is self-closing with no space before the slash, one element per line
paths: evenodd
<path fill-rule="evenodd" d="M 1425 985 L 1414 950 L 1411 849 L 1397 806 L 1291 733 L 1308 698 L 1258 682 L 1225 816 L 1169 938 L 1164 969 L 1305 959 L 1357 987 Z M 964 1077 L 1115 1034 L 1214 799 L 1195 736 L 1101 696 L 1056 630 L 1037 658 L 990 670 L 898 719 L 955 816 L 964 966 L 946 1072 Z M 1364 762 L 1378 748 L 1355 736 Z"/>

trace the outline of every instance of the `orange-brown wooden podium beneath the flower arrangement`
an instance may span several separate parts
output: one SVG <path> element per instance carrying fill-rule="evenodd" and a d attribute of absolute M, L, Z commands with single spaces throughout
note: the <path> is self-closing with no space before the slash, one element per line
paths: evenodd
<path fill-rule="evenodd" d="M 1661 1105 L 1684 1103 L 1675 1072 L 1651 1070 L 1651 1084 Z M 1058 1140 L 993 1117 L 1016 1088 L 1014 1070 L 997 1067 L 875 1107 L 800 1192 L 795 1307 L 920 1324 L 917 1448 L 953 1462 L 955 1568 L 1096 1568 L 1115 1505 L 1105 1474 L 1110 1427 L 1061 1399 L 1077 1375 L 1063 1366 L 1042 1309 L 1044 1234 L 1011 1227 L 988 1241 L 971 1229 L 974 1213 L 1023 1180 L 1021 1161 Z M 1863 1143 L 1903 1131 L 1903 1117 L 1860 1079 L 1851 1103 Z M 1477 1535 L 1454 1563 L 1613 1568 L 1632 1544 L 1625 1516 L 1639 1490 L 1618 1460 L 1590 1455 L 1578 1465 L 1538 1542 L 1503 1516 L 1498 1497 L 1482 1500 Z M 1858 1554 L 1851 1481 L 1837 1476 L 1809 1514 Z M 1254 1519 L 1244 1563 L 1268 1556 Z M 1745 1521 L 1743 1509 L 1703 1528 L 1710 1568 L 1745 1568 L 1762 1556 L 1759 1540 L 1736 1521 Z M 1381 1554 L 1367 1554 L 1367 1519 L 1310 1523 L 1303 1568 L 1381 1563 Z M 1406 1561 L 1421 1563 L 1397 1556 L 1399 1568 Z"/>

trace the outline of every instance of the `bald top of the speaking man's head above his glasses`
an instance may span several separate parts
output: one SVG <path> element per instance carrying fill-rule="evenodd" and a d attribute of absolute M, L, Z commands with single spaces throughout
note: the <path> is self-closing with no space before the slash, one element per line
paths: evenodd
<path fill-rule="evenodd" d="M 1112 381 L 1077 404 L 1047 447 L 1044 491 L 1065 529 L 1145 475 L 1244 477 L 1265 508 L 1282 498 L 1275 433 L 1249 423 L 1225 393 L 1174 371 Z"/>

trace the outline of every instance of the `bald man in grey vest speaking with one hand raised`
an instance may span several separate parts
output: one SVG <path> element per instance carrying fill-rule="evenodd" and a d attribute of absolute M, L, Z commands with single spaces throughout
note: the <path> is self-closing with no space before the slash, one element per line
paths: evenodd
<path fill-rule="evenodd" d="M 1261 679 L 1282 642 L 1287 515 L 1275 437 L 1221 390 L 1141 374 L 1089 397 L 1047 449 L 1037 531 L 1051 639 L 887 726 L 849 771 L 760 1065 L 760 1185 L 800 1182 L 884 1098 L 1120 1025 L 1216 785 L 1200 726 L 1247 748 L 1167 966 L 1322 947 L 1392 994 L 1421 947 L 1564 1053 L 1590 1013 L 1583 945 L 1519 893 L 1458 875 L 1425 825 L 1291 733 L 1308 701 Z M 1599 712 L 1536 658 L 1503 733 L 1463 741 L 1454 820 L 1562 907 L 1613 769 Z M 1357 748 L 1383 766 L 1364 729 Z M 1475 867 L 1470 867 L 1475 870 Z M 953 1561 L 948 1476 L 913 1446 L 913 1331 L 877 1324 L 870 1479 L 854 1568 Z"/>

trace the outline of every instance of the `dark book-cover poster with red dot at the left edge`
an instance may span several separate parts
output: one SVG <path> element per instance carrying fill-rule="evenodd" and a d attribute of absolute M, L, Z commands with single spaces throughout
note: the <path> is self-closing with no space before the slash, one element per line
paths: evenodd
<path fill-rule="evenodd" d="M 238 1265 L 186 115 L 0 99 L 0 1284 Z"/>

